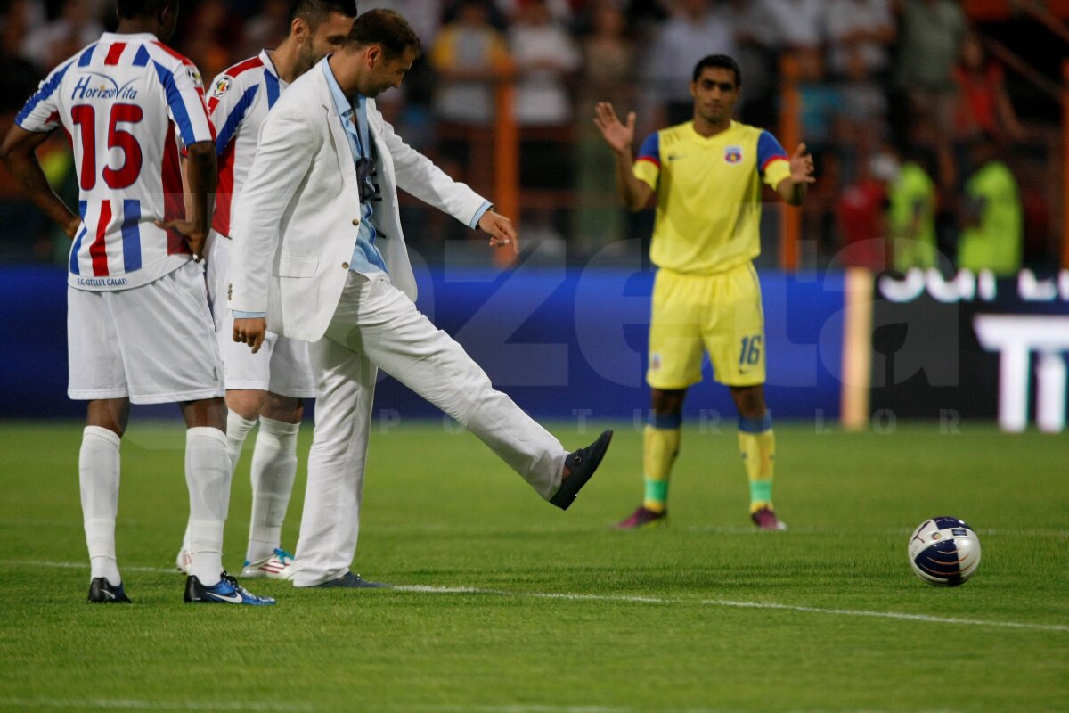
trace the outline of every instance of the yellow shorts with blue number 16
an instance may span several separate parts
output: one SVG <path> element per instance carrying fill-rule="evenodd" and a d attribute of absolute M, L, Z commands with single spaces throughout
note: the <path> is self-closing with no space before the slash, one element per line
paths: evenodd
<path fill-rule="evenodd" d="M 764 311 L 753 263 L 716 275 L 657 270 L 647 384 L 663 390 L 697 384 L 707 352 L 721 384 L 764 383 Z"/>

